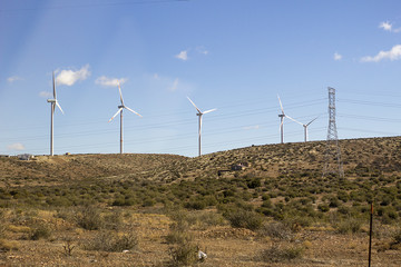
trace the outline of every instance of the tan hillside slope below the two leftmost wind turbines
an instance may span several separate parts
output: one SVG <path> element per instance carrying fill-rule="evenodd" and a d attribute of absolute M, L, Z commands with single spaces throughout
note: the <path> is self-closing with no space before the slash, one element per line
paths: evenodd
<path fill-rule="evenodd" d="M 140 174 L 185 159 L 176 155 L 69 155 L 39 156 L 35 160 L 0 158 L 0 179 L 11 185 L 59 184 L 87 178 Z"/>

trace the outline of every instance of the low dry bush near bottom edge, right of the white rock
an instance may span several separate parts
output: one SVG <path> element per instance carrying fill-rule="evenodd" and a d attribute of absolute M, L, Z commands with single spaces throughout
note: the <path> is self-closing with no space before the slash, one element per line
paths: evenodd
<path fill-rule="evenodd" d="M 272 244 L 261 253 L 261 259 L 265 263 L 283 263 L 302 258 L 304 248 L 302 246 Z"/>

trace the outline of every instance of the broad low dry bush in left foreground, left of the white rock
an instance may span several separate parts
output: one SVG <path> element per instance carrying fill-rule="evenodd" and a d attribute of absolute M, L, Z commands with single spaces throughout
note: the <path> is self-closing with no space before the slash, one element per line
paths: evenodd
<path fill-rule="evenodd" d="M 88 240 L 84 248 L 87 250 L 123 251 L 136 248 L 137 245 L 138 237 L 135 233 L 119 235 L 116 231 L 101 230 Z"/>

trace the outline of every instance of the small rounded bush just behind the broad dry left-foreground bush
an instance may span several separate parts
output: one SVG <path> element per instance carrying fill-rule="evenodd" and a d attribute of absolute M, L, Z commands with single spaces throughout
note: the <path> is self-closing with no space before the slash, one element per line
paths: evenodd
<path fill-rule="evenodd" d="M 94 206 L 82 207 L 76 212 L 76 222 L 87 230 L 98 230 L 104 226 L 104 220 L 98 208 Z"/>

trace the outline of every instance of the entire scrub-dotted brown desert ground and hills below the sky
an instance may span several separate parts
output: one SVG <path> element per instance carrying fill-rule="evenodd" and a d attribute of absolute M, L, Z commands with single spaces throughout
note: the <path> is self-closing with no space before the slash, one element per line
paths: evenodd
<path fill-rule="evenodd" d="M 339 144 L 344 178 L 324 141 L 0 158 L 0 265 L 365 266 L 373 202 L 374 266 L 401 266 L 401 137 Z"/>

